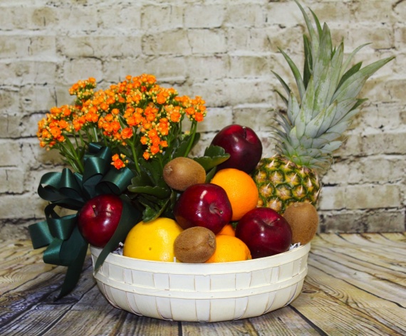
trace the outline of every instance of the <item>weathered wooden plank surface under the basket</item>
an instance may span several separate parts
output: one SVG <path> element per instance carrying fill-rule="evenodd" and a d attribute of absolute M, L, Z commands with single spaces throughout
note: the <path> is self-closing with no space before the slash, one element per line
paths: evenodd
<path fill-rule="evenodd" d="M 65 268 L 30 241 L 0 241 L 0 335 L 406 335 L 405 233 L 321 234 L 301 295 L 230 322 L 168 322 L 113 308 L 92 277 L 55 301 Z"/>

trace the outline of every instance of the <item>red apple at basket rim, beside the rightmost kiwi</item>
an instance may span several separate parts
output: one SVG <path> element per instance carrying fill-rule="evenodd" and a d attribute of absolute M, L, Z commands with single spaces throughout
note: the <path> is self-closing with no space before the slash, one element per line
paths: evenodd
<path fill-rule="evenodd" d="M 256 208 L 239 220 L 236 237 L 246 243 L 255 259 L 288 251 L 292 230 L 286 219 L 273 209 Z"/>

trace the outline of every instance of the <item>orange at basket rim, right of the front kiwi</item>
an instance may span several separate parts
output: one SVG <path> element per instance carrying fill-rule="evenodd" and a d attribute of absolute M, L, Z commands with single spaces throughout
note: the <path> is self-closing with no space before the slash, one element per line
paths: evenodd
<path fill-rule="evenodd" d="M 244 241 L 227 234 L 216 235 L 216 251 L 206 263 L 227 263 L 251 259 L 251 253 Z"/>

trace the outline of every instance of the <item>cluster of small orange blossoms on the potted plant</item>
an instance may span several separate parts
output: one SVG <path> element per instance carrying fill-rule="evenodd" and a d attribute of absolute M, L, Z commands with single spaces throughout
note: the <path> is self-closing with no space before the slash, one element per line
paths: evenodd
<path fill-rule="evenodd" d="M 142 156 L 150 159 L 165 152 L 173 137 L 178 136 L 171 130 L 181 127 L 184 115 L 192 124 L 202 122 L 206 116 L 201 97 L 180 97 L 174 88 L 157 85 L 153 75 L 127 76 L 107 90 L 94 91 L 95 87 L 94 78 L 78 81 L 69 90 L 76 95 L 76 105 L 53 107 L 38 122 L 41 147 L 63 146 L 73 137 L 76 143 L 78 139 L 84 143 L 104 142 L 119 154 L 120 146 L 130 147 L 132 156 L 137 152 L 135 147 L 142 146 Z M 120 169 L 129 159 L 117 155 L 112 164 Z"/>

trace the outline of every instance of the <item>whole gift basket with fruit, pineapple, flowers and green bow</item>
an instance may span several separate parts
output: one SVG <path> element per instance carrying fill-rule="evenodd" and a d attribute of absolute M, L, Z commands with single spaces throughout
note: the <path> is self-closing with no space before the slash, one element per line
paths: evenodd
<path fill-rule="evenodd" d="M 53 107 L 38 122 L 41 147 L 58 149 L 73 168 L 43 175 L 38 194 L 49 202 L 46 220 L 28 228 L 34 248 L 48 246 L 46 263 L 68 266 L 58 298 L 75 288 L 88 244 L 103 248 L 90 246 L 100 291 L 137 315 L 237 320 L 299 295 L 318 227 L 318 174 L 333 164 L 364 101 L 357 97 L 365 81 L 392 57 L 349 68 L 365 45 L 343 63 L 343 43 L 333 48 L 328 26 L 312 13 L 315 29 L 298 6 L 308 28 L 305 66 L 301 75 L 281 51 L 299 99 L 275 73 L 287 95 L 276 90 L 286 110 L 277 118 L 272 157 L 263 157 L 261 139 L 241 125 L 219 130 L 202 156 L 192 157 L 205 101 L 148 74 L 105 90 L 95 90 L 95 78 L 79 80 L 69 90 L 73 105 Z M 78 213 L 61 217 L 60 207 Z M 224 238 L 227 225 L 234 235 Z M 210 232 L 187 233 L 195 227 Z M 125 256 L 112 253 L 120 243 Z M 296 243 L 302 246 L 289 250 Z M 172 262 L 172 250 L 184 263 Z"/>

